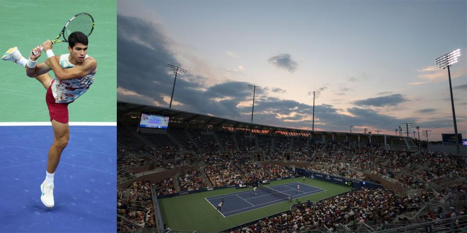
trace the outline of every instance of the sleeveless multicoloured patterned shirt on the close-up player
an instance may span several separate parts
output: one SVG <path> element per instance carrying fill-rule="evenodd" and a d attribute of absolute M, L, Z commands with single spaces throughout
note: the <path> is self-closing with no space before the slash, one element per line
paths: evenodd
<path fill-rule="evenodd" d="M 60 56 L 59 64 L 64 69 L 74 67 L 68 57 L 70 54 L 63 54 Z M 88 59 L 88 54 L 86 54 L 85 59 Z M 56 103 L 69 103 L 76 100 L 78 97 L 83 95 L 94 82 L 95 73 L 90 73 L 81 78 L 69 79 L 69 80 L 59 80 L 55 76 L 55 82 L 52 83 L 52 94 L 54 95 Z"/>

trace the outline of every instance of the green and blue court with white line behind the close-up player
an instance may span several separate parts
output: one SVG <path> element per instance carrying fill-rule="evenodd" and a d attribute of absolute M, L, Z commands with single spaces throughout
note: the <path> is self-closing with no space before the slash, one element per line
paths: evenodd
<path fill-rule="evenodd" d="M 95 21 L 88 54 L 98 71 L 90 89 L 68 107 L 70 140 L 54 176 L 55 206 L 48 209 L 39 187 L 54 142 L 46 90 L 24 67 L 0 60 L 0 232 L 116 231 L 116 9 L 115 0 L 2 1 L 1 52 L 18 47 L 28 57 L 72 16 L 86 12 Z M 67 43 L 53 50 L 70 53 Z M 42 53 L 37 62 L 46 58 Z"/>

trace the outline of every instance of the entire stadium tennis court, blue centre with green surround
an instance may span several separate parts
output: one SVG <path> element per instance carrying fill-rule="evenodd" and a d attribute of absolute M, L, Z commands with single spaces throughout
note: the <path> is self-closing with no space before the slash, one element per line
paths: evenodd
<path fill-rule="evenodd" d="M 300 184 L 301 191 L 298 195 L 296 191 L 297 183 Z M 343 185 L 308 178 L 303 181 L 302 177 L 272 181 L 268 186 L 286 191 L 292 195 L 292 201 L 278 197 L 273 198 L 271 196 L 275 195 L 268 195 L 269 193 L 264 193 L 265 191 L 260 191 L 260 189 L 257 190 L 256 196 L 268 196 L 255 198 L 252 195 L 251 187 L 244 190 L 235 189 L 234 187 L 217 189 L 158 199 L 162 221 L 166 224 L 166 227 L 178 231 L 219 232 L 287 211 L 293 203 L 296 203 L 297 199 L 302 202 L 307 200 L 319 201 L 350 191 L 349 187 Z M 224 200 L 221 214 L 216 210 L 216 207 L 221 201 L 219 197 L 224 197 L 224 195 L 227 199 Z M 248 204 L 240 197 L 251 202 L 251 204 Z M 222 216 L 224 214 L 226 215 Z"/>

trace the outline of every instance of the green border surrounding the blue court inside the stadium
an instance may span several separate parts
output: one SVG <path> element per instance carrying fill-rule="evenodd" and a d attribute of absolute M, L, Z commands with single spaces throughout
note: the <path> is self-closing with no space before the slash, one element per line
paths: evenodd
<path fill-rule="evenodd" d="M 305 181 L 303 181 L 301 177 L 273 181 L 268 186 L 294 182 L 305 183 L 310 186 L 327 190 L 299 198 L 300 201 L 319 201 L 350 191 L 350 187 L 314 179 L 305 179 Z M 158 201 L 161 208 L 162 221 L 167 225 L 166 227 L 170 227 L 176 231 L 218 232 L 256 219 L 284 212 L 290 208 L 292 203 L 296 202 L 296 199 L 293 199 L 292 202 L 285 201 L 242 214 L 224 217 L 217 212 L 208 201 L 205 200 L 205 198 L 208 197 L 245 190 L 251 190 L 251 188 L 235 189 L 233 187 L 159 199 Z"/>

